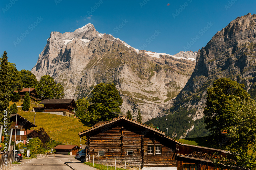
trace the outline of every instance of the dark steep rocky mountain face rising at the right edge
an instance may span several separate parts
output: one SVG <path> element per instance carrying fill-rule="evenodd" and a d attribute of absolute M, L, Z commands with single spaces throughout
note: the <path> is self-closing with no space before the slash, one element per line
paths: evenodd
<path fill-rule="evenodd" d="M 169 104 L 170 110 L 193 110 L 193 120 L 203 117 L 206 91 L 222 77 L 243 83 L 252 98 L 256 95 L 256 15 L 237 17 L 218 31 L 198 51 L 195 70 L 185 87 Z M 165 107 L 165 109 L 167 109 Z"/>

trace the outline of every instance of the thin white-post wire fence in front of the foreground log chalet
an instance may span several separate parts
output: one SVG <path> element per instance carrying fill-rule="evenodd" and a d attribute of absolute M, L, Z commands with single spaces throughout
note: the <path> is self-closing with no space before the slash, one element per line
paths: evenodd
<path fill-rule="evenodd" d="M 92 163 L 92 165 L 94 166 L 94 164 L 99 165 L 104 165 L 107 166 L 107 170 L 108 167 L 113 167 L 115 168 L 115 170 L 120 170 L 120 168 L 125 169 L 126 168 L 133 168 L 133 169 L 137 169 L 140 170 L 140 168 L 137 168 L 127 162 L 130 162 L 129 160 L 124 161 L 124 160 L 118 160 L 115 158 L 110 158 L 107 156 L 99 156 L 99 155 L 87 155 L 86 158 L 86 162 L 88 162 L 90 164 L 90 162 Z"/>

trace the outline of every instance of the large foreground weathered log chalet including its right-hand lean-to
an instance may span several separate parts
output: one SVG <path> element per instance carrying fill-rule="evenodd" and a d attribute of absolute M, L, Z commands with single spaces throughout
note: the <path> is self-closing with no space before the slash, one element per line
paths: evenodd
<path fill-rule="evenodd" d="M 108 122 L 98 122 L 88 130 L 78 133 L 87 139 L 87 158 L 93 157 L 100 164 L 143 168 L 173 167 L 177 170 L 219 170 L 207 155 L 225 151 L 182 144 L 165 135 L 164 132 L 146 126 L 126 117 L 118 117 Z M 122 162 L 123 161 L 123 162 Z"/>

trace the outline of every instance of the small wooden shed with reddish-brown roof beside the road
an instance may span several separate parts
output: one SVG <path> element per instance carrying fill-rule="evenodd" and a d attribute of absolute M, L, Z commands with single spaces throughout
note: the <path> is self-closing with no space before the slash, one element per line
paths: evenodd
<path fill-rule="evenodd" d="M 58 145 L 55 148 L 56 154 L 62 155 L 76 155 L 79 150 L 79 146 L 77 145 Z"/>

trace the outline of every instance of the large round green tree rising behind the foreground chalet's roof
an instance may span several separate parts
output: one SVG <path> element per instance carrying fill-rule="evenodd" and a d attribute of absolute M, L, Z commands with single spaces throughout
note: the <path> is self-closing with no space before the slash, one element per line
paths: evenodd
<path fill-rule="evenodd" d="M 100 83 L 92 90 L 92 103 L 88 109 L 92 119 L 91 122 L 112 120 L 120 114 L 120 106 L 123 103 L 115 85 Z"/>

